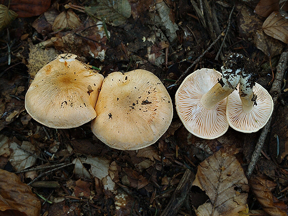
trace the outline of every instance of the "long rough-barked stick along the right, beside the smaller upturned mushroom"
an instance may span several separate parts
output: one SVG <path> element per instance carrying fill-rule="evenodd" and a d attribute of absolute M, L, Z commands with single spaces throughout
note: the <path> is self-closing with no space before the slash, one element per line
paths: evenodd
<path fill-rule="evenodd" d="M 282 52 L 282 54 L 280 56 L 280 60 L 278 62 L 277 68 L 276 68 L 277 71 L 275 74 L 275 79 L 274 79 L 274 82 L 273 82 L 271 90 L 270 90 L 270 94 L 271 94 L 271 96 L 273 98 L 273 102 L 274 102 L 274 110 L 275 110 L 275 104 L 276 104 L 278 97 L 281 93 L 281 83 L 282 83 L 284 72 L 285 72 L 286 67 L 287 67 L 287 61 L 288 61 L 288 47 L 286 46 L 285 50 Z M 274 110 L 273 110 L 273 112 L 274 112 Z M 251 174 L 255 168 L 255 165 L 256 165 L 257 160 L 259 158 L 259 155 L 260 155 L 261 149 L 263 147 L 264 141 L 266 139 L 268 130 L 270 128 L 270 124 L 271 124 L 271 117 L 270 117 L 269 121 L 267 122 L 267 124 L 263 127 L 261 134 L 258 138 L 258 141 L 256 143 L 255 150 L 252 154 L 250 164 L 249 164 L 248 169 L 246 171 L 247 178 L 251 177 Z"/>

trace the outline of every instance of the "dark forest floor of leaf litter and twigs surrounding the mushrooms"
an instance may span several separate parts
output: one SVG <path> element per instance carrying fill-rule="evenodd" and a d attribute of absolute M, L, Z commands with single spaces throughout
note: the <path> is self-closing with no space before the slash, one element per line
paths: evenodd
<path fill-rule="evenodd" d="M 14 20 L 0 8 L 0 215 L 287 215 L 285 4 L 22 2 L 10 2 Z M 257 64 L 257 82 L 267 91 L 278 82 L 271 123 L 266 132 L 194 136 L 177 115 L 176 90 L 195 70 L 221 71 L 231 52 Z M 154 73 L 173 103 L 166 133 L 149 147 L 117 150 L 93 135 L 90 122 L 53 129 L 33 120 L 25 94 L 37 71 L 61 53 L 74 53 L 104 77 Z M 246 175 L 256 144 L 263 148 Z"/>

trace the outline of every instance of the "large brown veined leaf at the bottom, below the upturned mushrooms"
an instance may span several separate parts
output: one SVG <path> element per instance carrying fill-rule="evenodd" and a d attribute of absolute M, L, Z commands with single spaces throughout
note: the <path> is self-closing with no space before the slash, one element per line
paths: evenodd
<path fill-rule="evenodd" d="M 211 206 L 198 208 L 198 215 L 218 212 L 218 215 L 232 216 L 246 208 L 248 180 L 237 158 L 222 149 L 199 165 L 193 185 L 206 191 L 211 200 Z"/>

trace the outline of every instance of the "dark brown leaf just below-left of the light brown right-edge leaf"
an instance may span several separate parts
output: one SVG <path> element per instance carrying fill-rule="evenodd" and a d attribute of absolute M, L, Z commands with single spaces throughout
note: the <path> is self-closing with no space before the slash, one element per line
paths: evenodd
<path fill-rule="evenodd" d="M 254 43 L 258 49 L 271 58 L 280 55 L 286 46 L 285 43 L 264 34 L 262 30 L 255 31 Z"/>

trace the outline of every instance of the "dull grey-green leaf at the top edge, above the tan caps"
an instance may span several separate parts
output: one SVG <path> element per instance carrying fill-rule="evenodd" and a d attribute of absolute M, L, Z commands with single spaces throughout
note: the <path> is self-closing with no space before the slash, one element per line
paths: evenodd
<path fill-rule="evenodd" d="M 85 12 L 100 20 L 105 18 L 107 23 L 119 26 L 131 16 L 131 6 L 127 0 L 98 0 L 97 6 L 85 7 Z"/>

